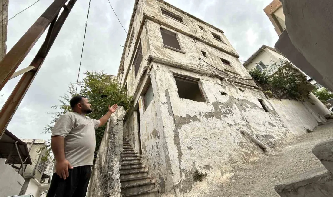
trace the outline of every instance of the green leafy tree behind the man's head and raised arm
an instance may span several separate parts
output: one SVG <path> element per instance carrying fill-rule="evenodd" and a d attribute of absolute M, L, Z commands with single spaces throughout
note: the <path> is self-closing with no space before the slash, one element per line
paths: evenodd
<path fill-rule="evenodd" d="M 71 112 L 72 109 L 69 105 L 69 100 L 75 95 L 81 95 L 86 97 L 90 104 L 92 104 L 93 112 L 87 114 L 90 118 L 99 119 L 105 113 L 108 112 L 108 105 L 117 103 L 119 106 L 123 106 L 125 110 L 129 110 L 132 107 L 132 97 L 127 95 L 127 91 L 121 88 L 118 84 L 118 80 L 112 78 L 110 75 L 106 75 L 103 71 L 92 71 L 85 72 L 84 78 L 79 82 L 80 91 L 75 94 L 75 85 L 70 84 L 68 92 L 59 99 L 60 104 L 52 106 L 57 112 L 48 112 L 53 114 L 53 119 L 50 124 L 47 124 L 44 129 L 45 133 L 51 133 L 53 130 L 54 123 L 60 116 L 67 112 Z M 96 133 L 96 149 L 94 153 L 94 162 L 100 147 L 101 140 L 104 135 L 106 125 L 99 127 L 95 130 Z M 47 153 L 43 157 L 43 160 L 47 160 L 47 157 L 51 156 L 50 146 L 47 145 Z"/>

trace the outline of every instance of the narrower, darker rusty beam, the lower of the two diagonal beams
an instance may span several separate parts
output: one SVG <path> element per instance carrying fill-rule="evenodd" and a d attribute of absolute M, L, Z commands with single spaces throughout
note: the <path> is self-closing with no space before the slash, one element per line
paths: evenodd
<path fill-rule="evenodd" d="M 56 0 L 57 1 L 57 0 Z M 56 2 L 55 1 L 55 2 Z M 23 74 L 22 78 L 16 85 L 15 89 L 7 99 L 6 103 L 2 107 L 0 111 L 0 138 L 3 135 L 7 125 L 9 124 L 12 116 L 14 115 L 17 107 L 20 105 L 25 93 L 27 92 L 28 88 L 30 87 L 33 79 L 35 78 L 36 74 L 38 73 L 40 67 L 42 66 L 44 59 L 54 40 L 56 39 L 61 27 L 63 26 L 67 16 L 69 15 L 70 11 L 72 10 L 75 2 L 77 0 L 70 0 L 67 4 L 68 9 L 64 9 L 60 14 L 59 18 L 54 18 L 52 21 L 50 28 L 48 30 L 47 36 L 41 48 L 39 49 L 37 55 L 31 62 L 30 66 L 34 66 L 35 69 Z M 58 14 L 56 14 L 57 16 Z M 1 65 L 1 63 L 0 63 Z M 1 76 L 1 75 L 0 75 Z"/>

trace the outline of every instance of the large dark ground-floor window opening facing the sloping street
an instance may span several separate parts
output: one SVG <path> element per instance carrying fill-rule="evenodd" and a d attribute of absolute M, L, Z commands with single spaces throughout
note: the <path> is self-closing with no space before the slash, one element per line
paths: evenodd
<path fill-rule="evenodd" d="M 199 87 L 199 80 L 189 79 L 182 76 L 173 75 L 179 98 L 185 98 L 192 101 L 206 102 Z"/>

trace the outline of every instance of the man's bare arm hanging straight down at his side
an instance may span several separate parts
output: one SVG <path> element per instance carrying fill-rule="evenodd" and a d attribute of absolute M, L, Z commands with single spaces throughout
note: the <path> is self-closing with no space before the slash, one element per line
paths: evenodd
<path fill-rule="evenodd" d="M 73 169 L 65 157 L 65 138 L 63 136 L 51 137 L 51 149 L 56 159 L 56 173 L 66 180 L 68 177 L 68 168 Z"/>

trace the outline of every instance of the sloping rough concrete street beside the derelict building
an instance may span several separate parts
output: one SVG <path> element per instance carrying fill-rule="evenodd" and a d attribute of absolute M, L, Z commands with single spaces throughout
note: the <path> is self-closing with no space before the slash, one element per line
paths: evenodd
<path fill-rule="evenodd" d="M 205 197 L 279 197 L 274 186 L 295 174 L 322 166 L 311 149 L 333 138 L 333 121 L 318 126 L 314 132 L 298 137 L 281 151 L 243 165 L 219 191 Z"/>

